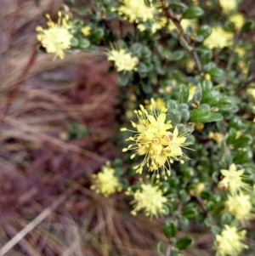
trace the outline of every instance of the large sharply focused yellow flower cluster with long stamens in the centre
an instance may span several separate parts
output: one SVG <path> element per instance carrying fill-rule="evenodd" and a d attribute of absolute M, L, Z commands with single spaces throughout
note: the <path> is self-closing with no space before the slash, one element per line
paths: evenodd
<path fill-rule="evenodd" d="M 170 163 L 173 161 L 184 163 L 182 157 L 189 159 L 184 155 L 182 148 L 186 148 L 190 143 L 185 142 L 187 133 L 178 134 L 178 128 L 174 128 L 173 132 L 170 131 L 173 126 L 171 121 L 166 122 L 167 108 L 162 107 L 161 111 L 156 111 L 154 106 L 155 102 L 152 99 L 150 111 L 146 111 L 143 105 L 140 105 L 139 111 L 134 111 L 139 123 L 132 122 L 132 125 L 137 131 L 130 130 L 135 135 L 126 140 L 132 141 L 133 144 L 122 151 L 135 151 L 131 159 L 137 155 L 144 155 L 143 162 L 134 167 L 138 174 L 142 174 L 145 166 L 150 172 L 157 172 L 156 178 L 159 178 L 159 168 L 161 168 L 161 174 L 167 179 L 166 174 L 168 176 L 171 174 Z M 127 128 L 121 130 L 127 131 Z"/>

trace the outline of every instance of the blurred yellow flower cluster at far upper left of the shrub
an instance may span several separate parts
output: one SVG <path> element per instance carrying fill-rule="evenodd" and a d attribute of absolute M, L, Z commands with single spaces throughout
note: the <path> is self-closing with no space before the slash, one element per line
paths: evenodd
<path fill-rule="evenodd" d="M 37 39 L 42 43 L 42 47 L 46 49 L 48 54 L 55 54 L 54 59 L 59 56 L 64 58 L 64 50 L 71 48 L 71 22 L 69 16 L 62 17 L 61 12 L 58 12 L 58 23 L 54 23 L 48 14 L 48 29 L 42 29 L 42 26 L 37 26 Z"/>

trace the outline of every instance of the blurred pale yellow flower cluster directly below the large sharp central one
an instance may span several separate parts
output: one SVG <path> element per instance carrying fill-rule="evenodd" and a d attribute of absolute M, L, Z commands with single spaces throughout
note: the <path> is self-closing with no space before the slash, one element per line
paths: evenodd
<path fill-rule="evenodd" d="M 127 195 L 130 195 L 130 190 Z M 163 196 L 158 185 L 141 184 L 140 188 L 133 193 L 133 215 L 136 215 L 140 210 L 144 210 L 146 216 L 158 217 L 166 212 L 167 197 Z"/>

